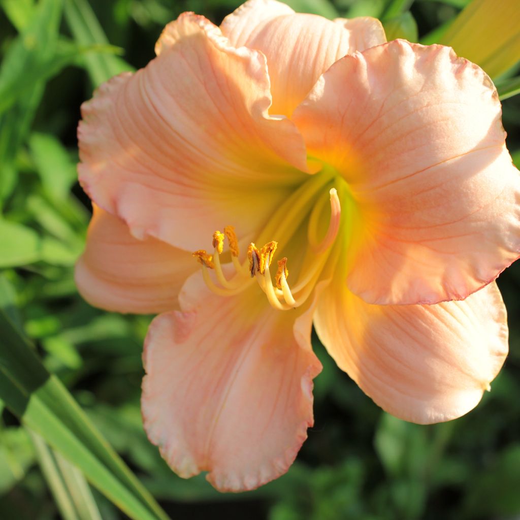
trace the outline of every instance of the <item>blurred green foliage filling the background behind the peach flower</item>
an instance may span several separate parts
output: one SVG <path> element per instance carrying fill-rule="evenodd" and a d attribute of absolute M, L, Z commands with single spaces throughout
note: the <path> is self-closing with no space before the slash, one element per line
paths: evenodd
<path fill-rule="evenodd" d="M 391 37 L 433 41 L 436 28 L 467 1 L 288 3 L 331 18 L 380 17 Z M 172 518 L 520 517 L 519 266 L 499 280 L 511 354 L 493 391 L 460 420 L 419 426 L 383 413 L 314 338 L 324 366 L 315 385 L 316 423 L 287 475 L 253 492 L 221 495 L 202 476 L 178 478 L 146 439 L 139 410 L 141 345 L 151 317 L 94 309 L 73 281 L 90 212 L 75 174 L 79 107 L 114 71 L 144 66 L 163 25 L 180 12 L 200 12 L 218 23 L 237 5 L 0 0 L 0 307 L 35 341 L 46 369 L 70 389 Z M 503 109 L 509 148 L 520 165 L 520 100 L 511 97 Z M 0 406 L 0 518 L 58 518 L 46 471 L 63 469 L 59 456 L 31 440 Z M 84 492 L 80 484 L 76 489 Z M 96 490 L 93 496 L 103 520 L 125 517 Z"/>

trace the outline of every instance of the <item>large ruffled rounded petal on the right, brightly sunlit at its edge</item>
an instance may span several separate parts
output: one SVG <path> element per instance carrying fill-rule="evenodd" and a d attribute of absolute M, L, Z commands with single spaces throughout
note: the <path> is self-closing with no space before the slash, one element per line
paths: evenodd
<path fill-rule="evenodd" d="M 461 299 L 520 252 L 520 176 L 497 93 L 443 46 L 336 62 L 296 110 L 311 155 L 347 180 L 359 221 L 349 288 L 368 303 Z"/>

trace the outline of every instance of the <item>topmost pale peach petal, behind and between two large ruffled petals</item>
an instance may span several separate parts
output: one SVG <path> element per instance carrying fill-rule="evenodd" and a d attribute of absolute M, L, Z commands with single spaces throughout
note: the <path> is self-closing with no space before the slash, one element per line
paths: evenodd
<path fill-rule="evenodd" d="M 271 80 L 271 114 L 291 116 L 318 77 L 337 59 L 386 42 L 381 22 L 295 14 L 275 0 L 249 0 L 227 16 L 222 32 L 233 45 L 261 50 Z"/>

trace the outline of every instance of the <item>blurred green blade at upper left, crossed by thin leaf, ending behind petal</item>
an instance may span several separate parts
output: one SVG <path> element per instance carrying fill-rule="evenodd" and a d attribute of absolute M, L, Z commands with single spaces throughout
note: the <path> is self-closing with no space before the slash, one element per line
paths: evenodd
<path fill-rule="evenodd" d="M 86 0 L 66 0 L 65 18 L 74 36 L 81 45 L 108 44 L 107 37 L 94 11 Z M 133 67 L 117 56 L 92 53 L 84 57 L 84 67 L 95 87 L 123 71 Z"/>

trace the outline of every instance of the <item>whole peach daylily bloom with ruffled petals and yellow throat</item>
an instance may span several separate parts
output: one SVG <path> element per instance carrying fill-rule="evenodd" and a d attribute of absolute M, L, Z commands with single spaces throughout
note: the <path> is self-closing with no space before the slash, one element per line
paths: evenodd
<path fill-rule="evenodd" d="M 76 280 L 94 305 L 162 313 L 142 414 L 172 469 L 232 491 L 288 470 L 313 424 L 313 323 L 397 417 L 475 407 L 508 350 L 494 280 L 520 250 L 482 69 L 274 0 L 220 27 L 185 13 L 155 50 L 82 107 Z"/>

